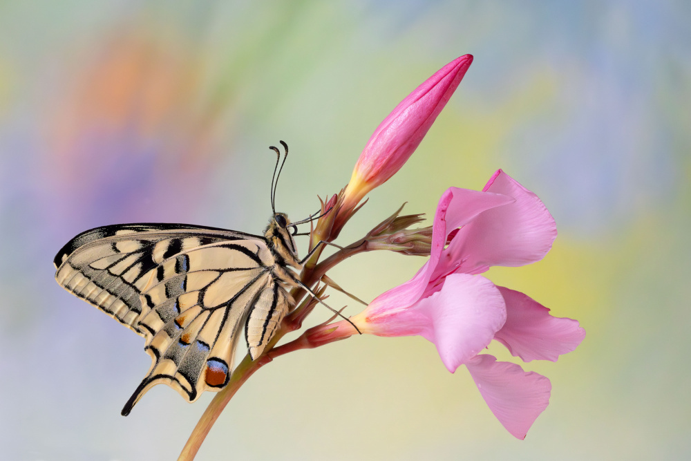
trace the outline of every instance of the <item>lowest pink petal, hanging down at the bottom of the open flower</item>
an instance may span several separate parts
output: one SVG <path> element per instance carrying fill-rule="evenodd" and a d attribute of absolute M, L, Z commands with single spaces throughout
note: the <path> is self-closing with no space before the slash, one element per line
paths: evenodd
<path fill-rule="evenodd" d="M 466 363 L 477 389 L 502 426 L 523 440 L 536 418 L 547 408 L 552 388 L 549 379 L 520 366 L 478 355 Z"/>

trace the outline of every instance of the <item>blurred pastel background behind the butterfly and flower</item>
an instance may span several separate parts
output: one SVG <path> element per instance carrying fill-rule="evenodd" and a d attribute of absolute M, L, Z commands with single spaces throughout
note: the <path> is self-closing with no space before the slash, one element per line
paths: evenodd
<path fill-rule="evenodd" d="M 278 140 L 291 156 L 276 205 L 303 218 L 404 96 L 472 53 L 339 242 L 406 201 L 431 217 L 444 189 L 480 189 L 498 168 L 535 191 L 553 250 L 489 276 L 587 330 L 576 352 L 524 366 L 551 379 L 545 413 L 515 440 L 432 344 L 357 337 L 260 370 L 198 459 L 688 459 L 690 13 L 681 0 L 0 3 L 0 458 L 175 459 L 211 399 L 157 386 L 120 416 L 149 357 L 55 283 L 66 241 L 137 221 L 261 233 Z M 366 254 L 330 275 L 371 300 L 423 262 Z"/>

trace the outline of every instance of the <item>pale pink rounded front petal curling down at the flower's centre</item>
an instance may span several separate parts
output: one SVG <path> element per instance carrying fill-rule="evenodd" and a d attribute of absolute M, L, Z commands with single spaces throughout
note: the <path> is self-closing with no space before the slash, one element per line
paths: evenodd
<path fill-rule="evenodd" d="M 410 311 L 428 318 L 429 328 L 419 334 L 437 346 L 451 373 L 486 348 L 506 320 L 504 299 L 494 283 L 467 274 L 446 277 L 440 291 Z"/>

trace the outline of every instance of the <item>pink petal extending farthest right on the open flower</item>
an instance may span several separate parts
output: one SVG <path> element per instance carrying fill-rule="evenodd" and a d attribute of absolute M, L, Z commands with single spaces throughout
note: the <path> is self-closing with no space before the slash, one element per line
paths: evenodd
<path fill-rule="evenodd" d="M 523 361 L 556 361 L 559 355 L 576 349 L 585 338 L 578 321 L 552 317 L 549 309 L 526 294 L 499 288 L 507 303 L 507 321 L 495 339 Z"/>

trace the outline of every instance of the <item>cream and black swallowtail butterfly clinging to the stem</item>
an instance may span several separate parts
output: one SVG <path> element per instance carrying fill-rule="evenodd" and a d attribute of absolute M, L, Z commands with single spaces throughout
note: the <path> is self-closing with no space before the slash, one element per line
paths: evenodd
<path fill-rule="evenodd" d="M 254 360 L 294 305 L 289 290 L 307 288 L 296 271 L 318 245 L 301 261 L 293 236 L 316 213 L 291 223 L 275 211 L 273 179 L 271 189 L 273 214 L 263 235 L 187 224 L 108 225 L 75 236 L 55 256 L 59 285 L 146 340 L 151 368 L 122 415 L 156 384 L 188 402 L 222 389 L 243 328 Z"/>

